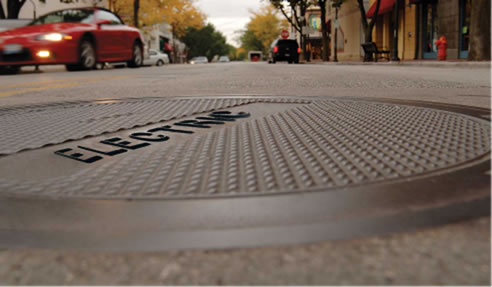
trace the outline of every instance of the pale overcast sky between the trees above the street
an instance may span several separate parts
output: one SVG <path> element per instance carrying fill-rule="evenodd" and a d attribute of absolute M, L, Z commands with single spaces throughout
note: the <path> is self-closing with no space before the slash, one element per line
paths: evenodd
<path fill-rule="evenodd" d="M 249 10 L 258 10 L 261 0 L 197 0 L 196 5 L 207 15 L 208 22 L 227 38 L 227 42 L 239 46 L 236 41 L 238 30 L 249 22 Z"/>

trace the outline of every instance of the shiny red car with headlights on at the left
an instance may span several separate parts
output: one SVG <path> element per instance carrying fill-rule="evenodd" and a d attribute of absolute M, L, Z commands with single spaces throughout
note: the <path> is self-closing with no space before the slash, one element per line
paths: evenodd
<path fill-rule="evenodd" d="M 21 66 L 64 64 L 67 70 L 90 70 L 103 62 L 143 62 L 143 39 L 116 14 L 102 8 L 65 9 L 46 14 L 28 26 L 0 33 L 0 72 Z"/>

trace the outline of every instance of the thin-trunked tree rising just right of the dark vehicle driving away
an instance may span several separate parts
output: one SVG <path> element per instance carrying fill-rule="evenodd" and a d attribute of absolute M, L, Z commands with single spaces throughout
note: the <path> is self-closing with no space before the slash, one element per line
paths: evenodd
<path fill-rule="evenodd" d="M 304 59 L 307 59 L 306 55 L 306 35 L 302 33 L 302 27 L 306 26 L 306 11 L 313 4 L 313 0 L 269 0 L 270 3 L 280 10 L 282 15 L 287 21 L 301 34 L 301 46 L 304 53 Z M 379 0 L 378 0 L 379 1 Z M 287 2 L 290 6 L 291 16 L 287 15 L 284 3 Z M 299 12 L 297 11 L 299 10 Z M 292 19 L 294 18 L 294 19 Z"/>

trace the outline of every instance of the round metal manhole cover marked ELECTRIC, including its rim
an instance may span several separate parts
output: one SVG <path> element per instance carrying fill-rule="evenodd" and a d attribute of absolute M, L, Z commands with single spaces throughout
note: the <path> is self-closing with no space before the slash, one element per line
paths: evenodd
<path fill-rule="evenodd" d="M 490 214 L 490 111 L 144 98 L 0 109 L 0 247 L 343 239 Z"/>

